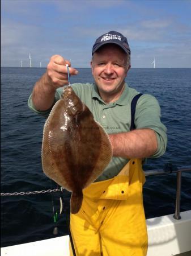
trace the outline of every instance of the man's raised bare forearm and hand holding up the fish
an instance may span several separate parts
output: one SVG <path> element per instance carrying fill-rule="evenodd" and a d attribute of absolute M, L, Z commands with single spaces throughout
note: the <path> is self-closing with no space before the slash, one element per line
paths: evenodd
<path fill-rule="evenodd" d="M 66 64 L 70 61 L 63 59 L 60 55 L 54 55 L 50 58 L 47 71 L 36 82 L 32 91 L 32 102 L 37 110 L 45 111 L 52 107 L 56 89 L 69 84 L 67 77 Z M 75 68 L 69 68 L 70 75 L 77 75 Z"/>

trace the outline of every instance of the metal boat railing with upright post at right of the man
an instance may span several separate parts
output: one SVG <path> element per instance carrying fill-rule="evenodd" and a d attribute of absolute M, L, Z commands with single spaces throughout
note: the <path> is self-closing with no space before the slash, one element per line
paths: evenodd
<path fill-rule="evenodd" d="M 181 199 L 181 179 L 182 172 L 190 172 L 191 166 L 176 167 L 171 163 L 165 164 L 163 169 L 145 171 L 145 176 L 164 175 L 176 173 L 176 202 L 175 202 L 175 214 L 173 218 L 180 220 L 180 199 Z"/>

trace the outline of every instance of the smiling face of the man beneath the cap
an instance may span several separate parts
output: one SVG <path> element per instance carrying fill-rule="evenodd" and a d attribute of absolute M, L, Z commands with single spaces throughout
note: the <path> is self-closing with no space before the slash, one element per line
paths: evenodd
<path fill-rule="evenodd" d="M 94 53 L 91 68 L 100 96 L 120 97 L 129 69 L 127 60 L 126 53 L 114 44 L 106 44 Z"/>

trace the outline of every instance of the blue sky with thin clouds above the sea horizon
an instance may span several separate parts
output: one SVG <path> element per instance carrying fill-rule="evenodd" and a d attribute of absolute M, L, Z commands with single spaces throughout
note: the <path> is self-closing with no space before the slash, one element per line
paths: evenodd
<path fill-rule="evenodd" d="M 1 67 L 89 68 L 96 38 L 128 39 L 131 68 L 191 68 L 191 0 L 1 0 Z"/>

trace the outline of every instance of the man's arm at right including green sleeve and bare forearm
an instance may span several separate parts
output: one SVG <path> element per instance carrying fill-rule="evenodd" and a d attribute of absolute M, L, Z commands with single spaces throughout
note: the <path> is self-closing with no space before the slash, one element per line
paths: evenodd
<path fill-rule="evenodd" d="M 158 158 L 167 147 L 167 128 L 160 121 L 158 100 L 144 94 L 137 102 L 135 111 L 135 130 L 109 134 L 113 156 L 123 158 Z"/>

